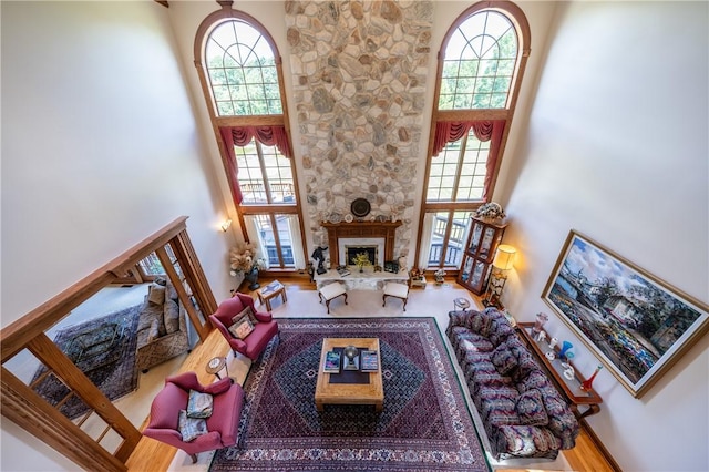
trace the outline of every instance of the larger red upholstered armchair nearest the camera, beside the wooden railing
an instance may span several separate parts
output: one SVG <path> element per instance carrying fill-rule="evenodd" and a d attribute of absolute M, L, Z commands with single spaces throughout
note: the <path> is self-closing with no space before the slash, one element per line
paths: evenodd
<path fill-rule="evenodd" d="M 213 396 L 213 413 L 206 419 L 207 433 L 185 442 L 179 433 L 179 410 L 187 409 L 189 390 Z M 143 434 L 182 449 L 193 462 L 197 453 L 236 444 L 239 417 L 244 407 L 244 390 L 232 379 L 225 378 L 202 386 L 195 372 L 185 372 L 165 379 L 165 387 L 153 399 L 151 421 Z"/>

